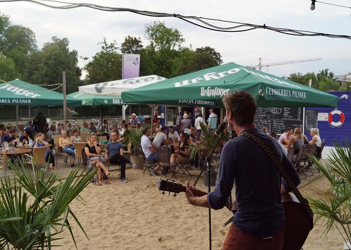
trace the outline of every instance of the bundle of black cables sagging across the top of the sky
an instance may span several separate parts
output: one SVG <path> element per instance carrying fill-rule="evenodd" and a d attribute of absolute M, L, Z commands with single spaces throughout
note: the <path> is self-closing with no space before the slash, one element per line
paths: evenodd
<path fill-rule="evenodd" d="M 195 17 L 195 16 L 183 16 L 180 14 L 170 14 L 170 13 L 161 13 L 161 12 L 153 12 L 153 11 L 145 11 L 145 10 L 137 10 L 137 9 L 130 9 L 130 8 L 118 8 L 118 7 L 108 7 L 102 6 L 93 3 L 72 3 L 66 1 L 59 1 L 59 0 L 0 0 L 0 2 L 18 2 L 18 1 L 26 1 L 35 4 L 39 4 L 41 6 L 45 6 L 48 8 L 54 9 L 74 9 L 78 7 L 87 7 L 101 11 L 110 11 L 110 12 L 131 12 L 138 15 L 149 16 L 149 17 L 174 17 L 180 19 L 182 21 L 189 22 L 193 25 L 196 25 L 201 28 L 220 31 L 220 32 L 245 32 L 254 29 L 268 29 L 274 32 L 278 32 L 281 34 L 291 35 L 291 36 L 308 36 L 308 37 L 329 37 L 329 38 L 344 38 L 350 39 L 351 36 L 348 35 L 336 35 L 336 34 L 328 34 L 328 33 L 321 33 L 321 32 L 313 32 L 313 31 L 306 31 L 306 30 L 295 30 L 289 28 L 279 28 L 273 27 L 266 24 L 259 25 L 259 24 L 252 24 L 252 23 L 244 23 L 244 22 L 236 22 L 236 21 L 227 21 L 227 20 L 220 20 L 220 19 L 211 19 L 211 18 L 203 18 L 203 17 Z M 46 4 L 45 2 L 56 2 L 66 5 L 50 5 Z M 223 27 L 218 26 L 215 23 L 226 23 L 230 24 L 230 26 Z"/>

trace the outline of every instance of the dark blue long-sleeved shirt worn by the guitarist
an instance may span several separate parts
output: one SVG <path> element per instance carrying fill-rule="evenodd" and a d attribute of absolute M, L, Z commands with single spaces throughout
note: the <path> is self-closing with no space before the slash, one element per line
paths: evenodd
<path fill-rule="evenodd" d="M 297 186 L 300 178 L 278 142 L 261 130 L 257 135 L 282 162 Z M 223 208 L 235 183 L 237 212 L 233 222 L 238 229 L 258 237 L 270 237 L 284 229 L 284 208 L 280 198 L 281 175 L 260 146 L 245 136 L 227 142 L 221 154 L 215 190 L 207 195 L 211 208 Z M 283 180 L 284 187 L 287 187 Z"/>

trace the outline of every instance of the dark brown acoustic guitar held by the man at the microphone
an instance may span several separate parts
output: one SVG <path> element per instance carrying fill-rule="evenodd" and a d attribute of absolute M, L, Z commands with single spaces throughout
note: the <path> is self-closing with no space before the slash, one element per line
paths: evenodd
<path fill-rule="evenodd" d="M 161 180 L 157 182 L 157 186 L 158 189 L 162 191 L 162 194 L 169 192 L 169 195 L 174 193 L 173 196 L 176 196 L 177 193 L 186 191 L 185 186 L 182 186 L 179 182 L 176 183 L 174 180 Z M 207 192 L 192 187 L 190 190 L 195 196 L 203 196 L 207 194 Z M 285 214 L 283 250 L 300 250 L 313 228 L 313 221 L 306 209 L 299 203 L 295 195 L 292 193 L 282 194 L 281 200 Z M 226 208 L 231 210 L 230 203 L 227 203 Z"/>

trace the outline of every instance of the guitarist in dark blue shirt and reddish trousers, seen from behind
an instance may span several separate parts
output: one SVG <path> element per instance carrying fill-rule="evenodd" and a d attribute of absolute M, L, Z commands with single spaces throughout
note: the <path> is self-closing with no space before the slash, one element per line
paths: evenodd
<path fill-rule="evenodd" d="M 259 137 L 281 161 L 297 186 L 300 179 L 278 142 L 254 125 L 256 100 L 244 90 L 233 91 L 223 98 L 229 128 L 240 135 L 244 131 Z M 254 156 L 254 157 L 253 157 Z M 224 250 L 281 250 L 284 236 L 284 208 L 280 193 L 288 192 L 278 169 L 252 139 L 238 136 L 222 149 L 219 178 L 215 190 L 195 197 L 187 182 L 190 204 L 220 209 L 227 203 L 235 183 L 236 213 L 223 244 Z M 246 246 L 246 248 L 242 248 Z"/>

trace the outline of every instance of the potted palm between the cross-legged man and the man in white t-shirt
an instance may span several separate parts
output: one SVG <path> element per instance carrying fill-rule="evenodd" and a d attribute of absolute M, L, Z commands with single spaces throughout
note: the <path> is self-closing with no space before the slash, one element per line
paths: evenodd
<path fill-rule="evenodd" d="M 129 146 L 131 151 L 131 162 L 135 163 L 136 169 L 143 169 L 144 167 L 144 158 L 141 153 L 141 129 L 132 128 L 124 131 L 123 134 L 123 145 Z M 129 149 L 129 148 L 128 148 Z"/>

